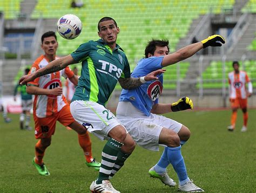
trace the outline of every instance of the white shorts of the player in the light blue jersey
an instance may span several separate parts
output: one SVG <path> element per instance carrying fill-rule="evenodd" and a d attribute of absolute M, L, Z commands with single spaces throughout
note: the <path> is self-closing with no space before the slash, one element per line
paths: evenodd
<path fill-rule="evenodd" d="M 182 127 L 181 123 L 162 115 L 146 116 L 131 102 L 124 101 L 118 103 L 117 118 L 139 146 L 152 151 L 159 151 L 159 135 L 164 127 L 176 133 Z"/>

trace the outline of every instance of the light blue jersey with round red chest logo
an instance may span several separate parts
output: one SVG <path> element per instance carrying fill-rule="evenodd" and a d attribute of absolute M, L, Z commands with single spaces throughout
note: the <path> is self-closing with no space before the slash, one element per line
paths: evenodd
<path fill-rule="evenodd" d="M 161 69 L 164 57 L 150 57 L 139 60 L 138 65 L 131 74 L 133 78 L 145 75 Z M 130 101 L 132 105 L 147 116 L 154 104 L 158 104 L 158 98 L 163 90 L 163 74 L 158 75 L 158 80 L 152 80 L 134 89 L 123 89 L 119 101 Z"/>

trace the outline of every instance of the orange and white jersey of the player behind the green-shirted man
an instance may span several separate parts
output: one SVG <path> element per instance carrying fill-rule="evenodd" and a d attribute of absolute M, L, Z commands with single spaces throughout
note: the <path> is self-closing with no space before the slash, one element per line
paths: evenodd
<path fill-rule="evenodd" d="M 58 59 L 56 57 L 56 59 Z M 40 68 L 45 67 L 49 64 L 49 61 L 44 57 L 40 56 L 32 64 L 31 70 L 29 72 L 33 73 Z M 62 82 L 60 81 L 60 76 L 64 78 L 73 77 L 73 72 L 67 66 L 63 70 L 43 75 L 38 77 L 35 80 L 28 82 L 28 85 L 38 86 L 40 88 L 53 89 L 56 87 L 61 87 Z M 51 116 L 54 113 L 59 112 L 65 105 L 68 105 L 65 99 L 65 96 L 62 95 L 35 95 L 35 100 L 33 102 L 33 113 L 38 118 L 45 118 L 46 116 Z"/>

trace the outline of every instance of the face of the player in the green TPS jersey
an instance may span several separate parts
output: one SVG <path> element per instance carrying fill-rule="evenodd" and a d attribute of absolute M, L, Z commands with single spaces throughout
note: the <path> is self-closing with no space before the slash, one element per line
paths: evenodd
<path fill-rule="evenodd" d="M 119 27 L 116 27 L 116 25 L 114 25 L 113 20 L 108 20 L 99 23 L 98 35 L 107 44 L 116 43 L 119 31 Z"/>

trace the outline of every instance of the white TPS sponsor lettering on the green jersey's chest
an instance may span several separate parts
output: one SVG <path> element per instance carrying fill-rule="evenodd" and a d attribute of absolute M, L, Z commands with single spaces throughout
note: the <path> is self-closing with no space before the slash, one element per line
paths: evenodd
<path fill-rule="evenodd" d="M 102 70 L 97 69 L 98 72 L 108 74 L 116 80 L 118 80 L 121 77 L 121 74 L 123 72 L 121 68 L 118 68 L 116 65 L 113 65 L 104 60 L 98 60 L 98 61 L 99 63 L 102 63 Z"/>

